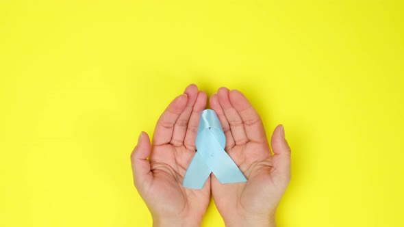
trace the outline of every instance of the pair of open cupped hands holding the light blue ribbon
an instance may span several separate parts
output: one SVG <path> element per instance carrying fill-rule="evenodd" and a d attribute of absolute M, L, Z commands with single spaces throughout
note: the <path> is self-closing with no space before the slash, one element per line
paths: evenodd
<path fill-rule="evenodd" d="M 140 133 L 131 154 L 134 184 L 147 204 L 153 226 L 200 226 L 214 198 L 226 226 L 275 226 L 275 211 L 290 181 L 290 148 L 282 125 L 270 143 L 257 111 L 238 90 L 219 88 L 210 97 L 226 137 L 225 151 L 245 183 L 221 184 L 214 174 L 203 189 L 182 186 L 197 148 L 195 139 L 207 95 L 188 85 L 160 116 L 153 142 Z"/>

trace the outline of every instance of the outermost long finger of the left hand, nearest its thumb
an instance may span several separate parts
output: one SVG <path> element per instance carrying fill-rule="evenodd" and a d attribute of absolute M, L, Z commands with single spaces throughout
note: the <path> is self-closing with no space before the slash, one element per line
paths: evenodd
<path fill-rule="evenodd" d="M 157 120 L 153 134 L 153 145 L 160 146 L 162 144 L 168 144 L 173 137 L 174 124 L 177 121 L 179 115 L 184 110 L 188 97 L 186 94 L 177 96 L 170 105 L 164 110 L 163 114 Z"/>

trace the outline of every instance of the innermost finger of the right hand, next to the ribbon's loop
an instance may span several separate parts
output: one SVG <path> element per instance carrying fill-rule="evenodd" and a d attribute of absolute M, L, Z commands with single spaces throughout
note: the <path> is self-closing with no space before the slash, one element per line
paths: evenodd
<path fill-rule="evenodd" d="M 227 121 L 225 112 L 223 112 L 223 109 L 219 104 L 218 94 L 213 94 L 212 96 L 210 96 L 209 103 L 210 103 L 210 107 L 216 112 L 216 114 L 220 120 L 220 124 L 222 125 L 223 133 L 225 133 L 225 137 L 226 137 L 226 148 L 225 149 L 227 150 L 229 148 L 232 148 L 233 146 L 236 145 L 236 143 L 234 142 L 233 135 L 231 134 L 230 124 Z"/>

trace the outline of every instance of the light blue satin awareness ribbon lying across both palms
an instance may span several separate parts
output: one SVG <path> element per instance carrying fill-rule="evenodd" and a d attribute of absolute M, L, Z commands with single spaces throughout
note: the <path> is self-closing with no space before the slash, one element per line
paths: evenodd
<path fill-rule="evenodd" d="M 213 172 L 219 182 L 246 182 L 236 163 L 225 152 L 226 137 L 215 111 L 205 109 L 201 113 L 197 133 L 197 152 L 184 176 L 184 187 L 201 189 L 210 173 Z"/>

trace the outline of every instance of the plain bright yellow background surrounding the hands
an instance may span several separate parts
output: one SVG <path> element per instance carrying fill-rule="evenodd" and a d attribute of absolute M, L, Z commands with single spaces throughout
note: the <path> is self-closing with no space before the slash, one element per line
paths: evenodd
<path fill-rule="evenodd" d="M 279 226 L 403 226 L 404 2 L 0 1 L 0 226 L 150 226 L 129 154 L 186 85 L 283 123 Z M 213 202 L 203 226 L 223 226 Z"/>

